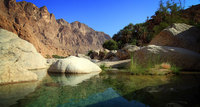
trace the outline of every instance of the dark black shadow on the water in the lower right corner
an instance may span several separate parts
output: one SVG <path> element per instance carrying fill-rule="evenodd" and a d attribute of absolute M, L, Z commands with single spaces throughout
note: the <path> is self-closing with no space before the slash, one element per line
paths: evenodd
<path fill-rule="evenodd" d="M 145 87 L 123 97 L 151 107 L 200 107 L 200 75 L 173 76 L 167 84 Z"/>

